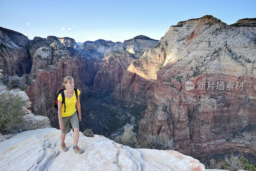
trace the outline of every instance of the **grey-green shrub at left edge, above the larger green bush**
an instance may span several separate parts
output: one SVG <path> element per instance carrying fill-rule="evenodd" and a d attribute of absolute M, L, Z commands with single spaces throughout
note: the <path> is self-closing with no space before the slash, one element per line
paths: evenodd
<path fill-rule="evenodd" d="M 4 83 L 4 85 L 7 85 L 8 87 L 19 88 L 21 91 L 27 89 L 27 85 L 23 83 L 22 77 L 18 77 L 16 75 L 5 75 L 2 77 L 1 81 Z"/>

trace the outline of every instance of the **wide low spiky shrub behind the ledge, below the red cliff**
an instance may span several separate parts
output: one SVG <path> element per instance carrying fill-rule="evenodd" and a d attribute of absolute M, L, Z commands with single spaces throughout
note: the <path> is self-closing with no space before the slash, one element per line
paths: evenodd
<path fill-rule="evenodd" d="M 175 150 L 174 140 L 168 139 L 166 134 L 160 133 L 159 135 L 146 135 L 146 141 L 141 143 L 143 148 L 157 149 L 157 150 Z"/>

